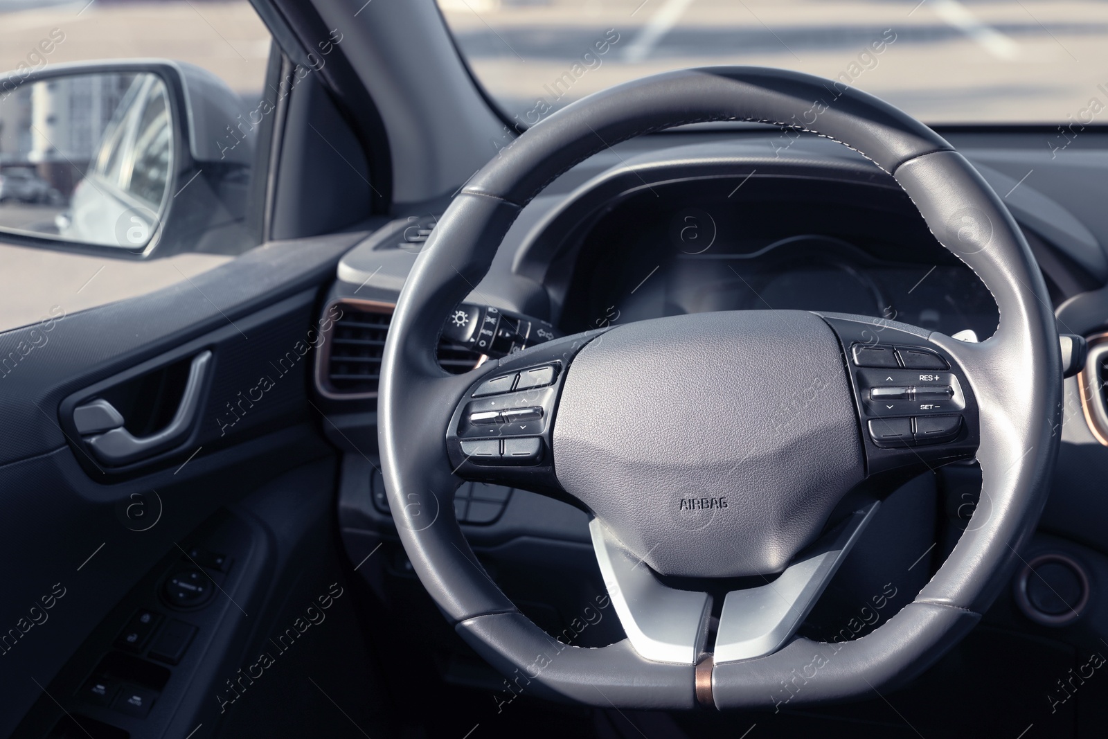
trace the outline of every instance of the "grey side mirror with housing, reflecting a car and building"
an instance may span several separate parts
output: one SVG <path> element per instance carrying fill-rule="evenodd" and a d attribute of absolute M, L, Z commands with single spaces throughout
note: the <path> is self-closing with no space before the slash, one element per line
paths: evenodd
<path fill-rule="evenodd" d="M 132 258 L 237 253 L 253 246 L 243 224 L 257 127 L 192 64 L 0 74 L 0 234 Z"/>

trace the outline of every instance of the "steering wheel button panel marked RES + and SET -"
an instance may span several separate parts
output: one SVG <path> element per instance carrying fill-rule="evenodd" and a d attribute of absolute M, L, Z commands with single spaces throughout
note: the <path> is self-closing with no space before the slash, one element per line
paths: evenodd
<path fill-rule="evenodd" d="M 842 342 L 870 474 L 973 458 L 977 406 L 953 357 L 890 321 L 824 320 Z"/>

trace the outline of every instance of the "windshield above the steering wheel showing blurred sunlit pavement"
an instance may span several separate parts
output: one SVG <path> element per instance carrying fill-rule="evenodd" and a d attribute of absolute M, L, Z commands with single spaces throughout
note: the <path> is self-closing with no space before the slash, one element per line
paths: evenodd
<path fill-rule="evenodd" d="M 779 66 L 931 124 L 1108 122 L 1108 3 L 1061 0 L 439 0 L 473 73 L 526 127 L 666 70 Z"/>

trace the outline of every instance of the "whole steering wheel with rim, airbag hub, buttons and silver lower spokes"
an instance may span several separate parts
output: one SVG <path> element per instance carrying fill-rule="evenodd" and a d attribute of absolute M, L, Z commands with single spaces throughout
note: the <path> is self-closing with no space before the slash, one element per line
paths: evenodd
<path fill-rule="evenodd" d="M 546 184 L 639 134 L 736 120 L 818 133 L 891 174 L 992 291 L 994 336 L 968 343 L 862 316 L 728 311 L 555 339 L 466 374 L 440 369 L 445 317 Z M 458 634 L 531 695 L 670 710 L 872 695 L 930 666 L 1017 564 L 1047 494 L 1061 397 L 1043 278 L 970 163 L 876 97 L 749 66 L 665 73 L 593 94 L 502 150 L 454 197 L 416 260 L 381 378 L 393 517 Z M 797 637 L 881 499 L 929 468 L 973 456 L 982 503 L 915 599 L 862 638 Z M 627 638 L 576 647 L 523 616 L 451 513 L 460 479 L 588 511 L 607 586 L 597 607 L 615 608 Z M 708 594 L 665 576 L 761 584 L 728 593 L 714 612 Z"/>

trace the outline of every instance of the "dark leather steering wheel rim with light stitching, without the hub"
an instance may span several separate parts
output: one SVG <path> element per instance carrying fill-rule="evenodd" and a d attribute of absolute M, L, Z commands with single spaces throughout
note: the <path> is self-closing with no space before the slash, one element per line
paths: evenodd
<path fill-rule="evenodd" d="M 489 578 L 450 515 L 459 480 L 443 450 L 443 408 L 473 382 L 437 362 L 443 319 L 486 274 L 519 215 L 560 174 L 617 142 L 681 124 L 757 121 L 832 138 L 891 174 L 932 233 L 999 308 L 993 337 L 965 343 L 914 329 L 964 368 L 979 408 L 982 501 L 916 598 L 870 635 L 838 645 L 794 638 L 755 659 L 693 665 L 644 659 L 627 642 L 562 644 Z M 587 339 L 587 337 L 586 337 Z M 962 155 L 883 101 L 838 82 L 773 69 L 670 72 L 568 105 L 502 150 L 439 220 L 400 295 L 386 342 L 379 443 L 398 532 L 416 573 L 456 632 L 520 689 L 596 706 L 766 708 L 847 699 L 903 682 L 979 619 L 1033 533 L 1057 452 L 1061 365 L 1045 284 L 1019 227 Z M 443 513 L 440 515 L 440 513 Z M 800 689 L 797 676 L 803 687 Z M 818 677 L 817 677 L 818 676 Z M 709 679 L 707 687 L 705 680 Z"/>

